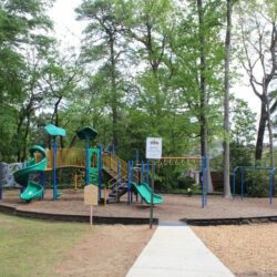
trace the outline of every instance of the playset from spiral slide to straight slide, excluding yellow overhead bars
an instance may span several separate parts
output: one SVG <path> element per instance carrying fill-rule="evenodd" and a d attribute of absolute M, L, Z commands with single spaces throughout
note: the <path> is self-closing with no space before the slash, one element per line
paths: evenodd
<path fill-rule="evenodd" d="M 114 153 L 102 153 L 102 146 L 90 147 L 90 141 L 94 140 L 98 132 L 91 127 L 82 127 L 76 131 L 80 140 L 85 141 L 85 148 L 59 148 L 57 137 L 64 136 L 65 130 L 49 124 L 44 127 L 45 133 L 52 138 L 52 148 L 44 150 L 41 146 L 31 147 L 31 160 L 23 168 L 14 173 L 16 181 L 23 186 L 21 199 L 30 202 L 33 198 L 43 198 L 44 173 L 52 172 L 53 201 L 61 197 L 58 192 L 57 171 L 71 168 L 74 171 L 74 187 L 84 179 L 85 185 L 93 184 L 99 187 L 99 202 L 104 204 L 119 202 L 125 193 L 136 192 L 145 203 L 150 204 L 151 188 L 146 183 L 142 185 L 130 179 L 127 163 Z M 106 185 L 102 184 L 102 171 L 110 178 Z M 30 175 L 40 173 L 40 182 L 31 181 Z M 137 179 L 138 182 L 138 179 Z M 156 201 L 158 198 L 158 201 Z M 129 196 L 132 201 L 132 197 Z M 155 195 L 154 204 L 162 204 L 163 197 Z"/>

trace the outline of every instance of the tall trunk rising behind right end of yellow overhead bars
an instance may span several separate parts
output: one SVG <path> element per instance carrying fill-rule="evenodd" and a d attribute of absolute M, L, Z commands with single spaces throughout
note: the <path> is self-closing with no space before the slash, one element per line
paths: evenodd
<path fill-rule="evenodd" d="M 203 3 L 202 0 L 197 0 L 197 13 L 198 13 L 198 24 L 199 24 L 199 55 L 201 55 L 201 80 L 199 80 L 199 93 L 201 93 L 201 153 L 202 156 L 207 157 L 207 174 L 208 174 L 208 192 L 213 192 L 213 183 L 209 170 L 209 158 L 208 158 L 208 131 L 207 131 L 207 93 L 206 93 L 206 55 L 205 55 L 205 35 L 204 35 L 204 14 L 203 14 Z M 206 179 L 206 178 L 204 178 Z"/>

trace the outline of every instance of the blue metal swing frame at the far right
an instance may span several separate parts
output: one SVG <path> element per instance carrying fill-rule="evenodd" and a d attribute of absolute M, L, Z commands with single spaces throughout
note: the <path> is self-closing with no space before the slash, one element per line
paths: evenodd
<path fill-rule="evenodd" d="M 236 196 L 236 176 L 240 171 L 240 197 L 244 198 L 245 194 L 245 172 L 246 171 L 269 171 L 269 204 L 273 204 L 274 196 L 274 177 L 276 167 L 271 166 L 236 166 L 233 171 L 233 197 Z"/>

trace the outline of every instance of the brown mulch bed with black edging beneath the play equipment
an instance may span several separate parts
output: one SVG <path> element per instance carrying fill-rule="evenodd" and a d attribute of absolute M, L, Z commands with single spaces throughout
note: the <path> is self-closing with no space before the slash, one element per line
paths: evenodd
<path fill-rule="evenodd" d="M 59 201 L 52 201 L 48 189 L 43 201 L 23 203 L 19 191 L 4 191 L 0 212 L 18 216 L 53 220 L 89 222 L 90 207 L 83 203 L 83 189 L 63 189 Z M 277 223 L 277 198 L 235 198 L 209 196 L 207 207 L 202 208 L 201 196 L 164 194 L 164 204 L 154 207 L 154 223 L 186 222 L 189 225 L 230 225 Z M 138 198 L 93 207 L 93 220 L 98 224 L 147 224 L 150 206 Z"/>

